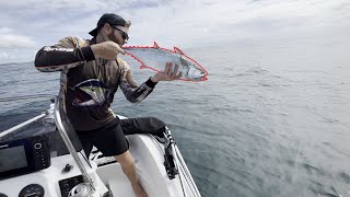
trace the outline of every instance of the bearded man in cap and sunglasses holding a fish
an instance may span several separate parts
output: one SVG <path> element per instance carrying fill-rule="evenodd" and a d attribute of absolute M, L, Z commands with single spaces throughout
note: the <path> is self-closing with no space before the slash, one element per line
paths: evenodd
<path fill-rule="evenodd" d="M 161 136 L 165 129 L 156 118 L 118 119 L 110 111 L 114 94 L 120 86 L 126 99 L 139 103 L 145 99 L 159 81 L 173 81 L 182 77 L 178 66 L 166 63 L 140 86 L 132 79 L 129 66 L 117 58 L 125 54 L 131 22 L 106 13 L 97 27 L 90 32 L 91 40 L 70 36 L 54 46 L 43 47 L 36 55 L 35 67 L 39 71 L 61 71 L 59 97 L 62 111 L 73 125 L 85 152 L 97 147 L 105 157 L 115 157 L 131 183 L 138 197 L 147 194 L 137 181 L 133 159 L 128 151 L 125 135 L 153 134 Z"/>

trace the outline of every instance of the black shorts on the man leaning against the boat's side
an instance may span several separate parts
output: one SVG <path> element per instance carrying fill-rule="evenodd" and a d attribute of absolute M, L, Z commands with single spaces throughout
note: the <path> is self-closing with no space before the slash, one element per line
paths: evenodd
<path fill-rule="evenodd" d="M 77 130 L 86 155 L 95 146 L 104 157 L 119 155 L 129 150 L 125 135 L 151 134 L 163 137 L 165 124 L 153 117 L 118 119 L 95 130 Z"/>

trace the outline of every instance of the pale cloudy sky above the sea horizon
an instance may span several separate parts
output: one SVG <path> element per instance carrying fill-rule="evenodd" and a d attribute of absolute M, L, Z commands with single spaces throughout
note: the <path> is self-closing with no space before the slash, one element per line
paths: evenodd
<path fill-rule="evenodd" d="M 129 45 L 195 48 L 232 42 L 349 40 L 349 0 L 0 0 L 0 63 L 33 61 L 69 35 L 91 38 L 103 13 L 131 21 Z"/>

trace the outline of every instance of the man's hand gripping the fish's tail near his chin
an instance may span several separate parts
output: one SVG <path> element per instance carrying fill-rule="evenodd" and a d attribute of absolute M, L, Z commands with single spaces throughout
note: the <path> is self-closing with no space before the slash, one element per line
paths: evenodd
<path fill-rule="evenodd" d="M 125 54 L 120 46 L 112 40 L 91 45 L 95 58 L 115 59 L 118 54 Z"/>

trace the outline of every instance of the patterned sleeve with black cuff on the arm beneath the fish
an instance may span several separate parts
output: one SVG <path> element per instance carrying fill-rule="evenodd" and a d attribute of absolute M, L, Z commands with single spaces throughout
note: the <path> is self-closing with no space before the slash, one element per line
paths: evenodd
<path fill-rule="evenodd" d="M 135 80 L 132 79 L 132 73 L 128 63 L 122 60 L 120 61 L 120 59 L 118 59 L 118 62 L 119 65 L 120 62 L 122 65 L 122 69 L 119 76 L 119 85 L 125 97 L 131 103 L 140 103 L 153 91 L 156 83 L 151 81 L 150 78 L 140 86 L 138 86 Z"/>

